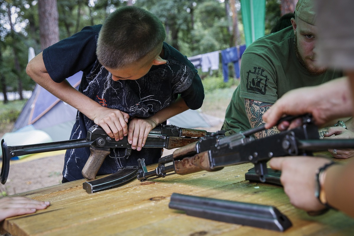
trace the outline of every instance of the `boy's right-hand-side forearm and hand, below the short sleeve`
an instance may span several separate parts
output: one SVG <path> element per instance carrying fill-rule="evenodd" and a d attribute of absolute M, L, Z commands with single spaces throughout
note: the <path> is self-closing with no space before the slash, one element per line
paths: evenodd
<path fill-rule="evenodd" d="M 138 151 L 144 146 L 149 132 L 155 128 L 159 123 L 175 116 L 183 111 L 188 110 L 183 98 L 178 96 L 176 101 L 168 107 L 159 110 L 155 115 L 149 118 L 135 117 L 129 122 L 128 127 L 128 142 L 132 145 L 132 149 Z"/>

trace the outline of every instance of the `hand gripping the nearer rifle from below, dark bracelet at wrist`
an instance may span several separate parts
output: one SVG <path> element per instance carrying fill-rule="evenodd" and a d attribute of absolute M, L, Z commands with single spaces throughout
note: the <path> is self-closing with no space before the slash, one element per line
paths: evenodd
<path fill-rule="evenodd" d="M 292 156 L 274 157 L 269 165 L 281 171 L 280 181 L 290 203 L 307 212 L 315 212 L 325 208 L 315 197 L 316 172 L 329 162 L 322 157 Z"/>

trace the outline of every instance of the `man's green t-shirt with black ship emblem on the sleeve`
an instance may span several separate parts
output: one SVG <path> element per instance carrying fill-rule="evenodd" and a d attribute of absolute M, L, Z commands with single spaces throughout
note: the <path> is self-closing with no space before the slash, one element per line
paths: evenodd
<path fill-rule="evenodd" d="M 245 98 L 275 103 L 289 90 L 320 85 L 342 76 L 341 72 L 332 70 L 310 75 L 296 57 L 294 38 L 290 26 L 256 40 L 246 48 L 242 54 L 240 85 L 232 96 L 222 127 L 226 135 L 251 128 Z"/>

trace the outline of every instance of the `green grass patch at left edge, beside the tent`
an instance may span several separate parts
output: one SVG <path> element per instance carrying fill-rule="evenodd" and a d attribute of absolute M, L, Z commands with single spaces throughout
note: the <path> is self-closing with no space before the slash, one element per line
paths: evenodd
<path fill-rule="evenodd" d="M 8 130 L 8 126 L 17 120 L 26 100 L 9 101 L 7 104 L 0 103 L 0 132 Z"/>

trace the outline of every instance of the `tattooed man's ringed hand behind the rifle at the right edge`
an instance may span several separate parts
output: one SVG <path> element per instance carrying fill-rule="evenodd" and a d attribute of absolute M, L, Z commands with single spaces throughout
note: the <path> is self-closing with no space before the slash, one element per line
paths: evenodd
<path fill-rule="evenodd" d="M 341 126 L 330 127 L 324 134 L 324 139 L 354 139 L 354 133 Z M 346 159 L 354 156 L 354 149 L 328 149 L 332 156 Z"/>

